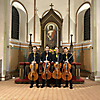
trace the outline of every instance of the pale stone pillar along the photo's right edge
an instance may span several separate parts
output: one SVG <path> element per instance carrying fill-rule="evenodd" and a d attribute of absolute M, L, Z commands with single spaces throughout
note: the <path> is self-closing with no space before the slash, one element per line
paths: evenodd
<path fill-rule="evenodd" d="M 91 49 L 91 76 L 92 80 L 100 80 L 100 1 L 92 0 L 91 2 L 91 32 L 92 32 L 92 49 Z"/>

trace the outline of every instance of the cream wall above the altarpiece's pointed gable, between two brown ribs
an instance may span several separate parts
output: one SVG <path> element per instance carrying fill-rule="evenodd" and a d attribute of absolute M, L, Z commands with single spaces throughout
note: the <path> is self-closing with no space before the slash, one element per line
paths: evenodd
<path fill-rule="evenodd" d="M 58 10 L 63 18 L 66 16 L 67 12 L 67 0 L 36 0 L 37 1 L 37 9 L 39 17 L 42 17 L 44 11 L 50 9 L 49 6 L 51 3 L 54 5 L 54 9 Z"/>

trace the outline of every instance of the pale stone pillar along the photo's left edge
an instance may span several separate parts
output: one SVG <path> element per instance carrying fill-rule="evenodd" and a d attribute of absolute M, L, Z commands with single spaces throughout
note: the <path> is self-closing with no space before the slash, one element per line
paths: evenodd
<path fill-rule="evenodd" d="M 2 60 L 1 80 L 6 80 L 9 73 L 9 22 L 10 0 L 0 0 L 0 59 Z M 5 77 L 7 76 L 7 77 Z"/>

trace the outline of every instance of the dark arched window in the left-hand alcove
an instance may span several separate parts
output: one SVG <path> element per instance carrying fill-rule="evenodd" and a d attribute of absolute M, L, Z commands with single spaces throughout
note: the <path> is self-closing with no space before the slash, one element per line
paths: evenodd
<path fill-rule="evenodd" d="M 14 6 L 12 6 L 11 38 L 19 40 L 19 13 Z"/>

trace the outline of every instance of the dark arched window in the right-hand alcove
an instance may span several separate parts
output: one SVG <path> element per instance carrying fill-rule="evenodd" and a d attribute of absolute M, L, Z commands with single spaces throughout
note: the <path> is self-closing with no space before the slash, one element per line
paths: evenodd
<path fill-rule="evenodd" d="M 84 41 L 90 40 L 90 8 L 84 15 Z"/>

